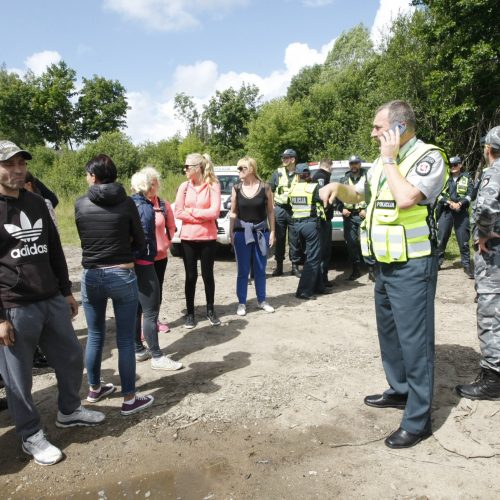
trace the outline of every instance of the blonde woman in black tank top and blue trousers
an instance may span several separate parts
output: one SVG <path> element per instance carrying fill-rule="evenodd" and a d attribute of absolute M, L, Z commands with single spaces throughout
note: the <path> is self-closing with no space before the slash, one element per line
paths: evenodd
<path fill-rule="evenodd" d="M 230 235 L 236 254 L 238 277 L 238 316 L 245 316 L 248 274 L 253 266 L 258 307 L 272 313 L 266 302 L 266 265 L 268 249 L 274 244 L 273 193 L 257 173 L 257 162 L 245 156 L 238 161 L 240 182 L 231 193 Z"/>

